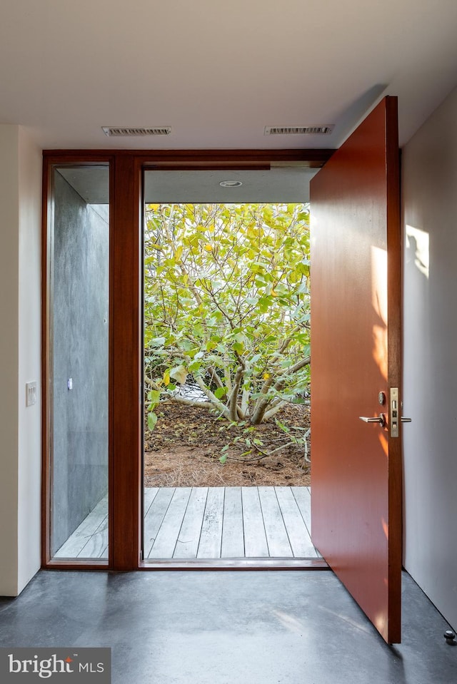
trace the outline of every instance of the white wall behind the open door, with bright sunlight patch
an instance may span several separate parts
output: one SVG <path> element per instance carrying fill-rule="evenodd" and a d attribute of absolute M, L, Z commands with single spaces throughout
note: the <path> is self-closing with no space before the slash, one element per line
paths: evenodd
<path fill-rule="evenodd" d="M 457 628 L 457 90 L 403 149 L 406 569 Z"/>

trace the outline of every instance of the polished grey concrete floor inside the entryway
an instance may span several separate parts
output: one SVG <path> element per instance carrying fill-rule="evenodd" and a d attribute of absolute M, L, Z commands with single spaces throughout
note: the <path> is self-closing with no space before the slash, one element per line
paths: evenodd
<path fill-rule="evenodd" d="M 457 647 L 403 576 L 389 647 L 330 571 L 42 571 L 0 599 L 0 646 L 109 646 L 114 684 L 447 684 Z"/>

